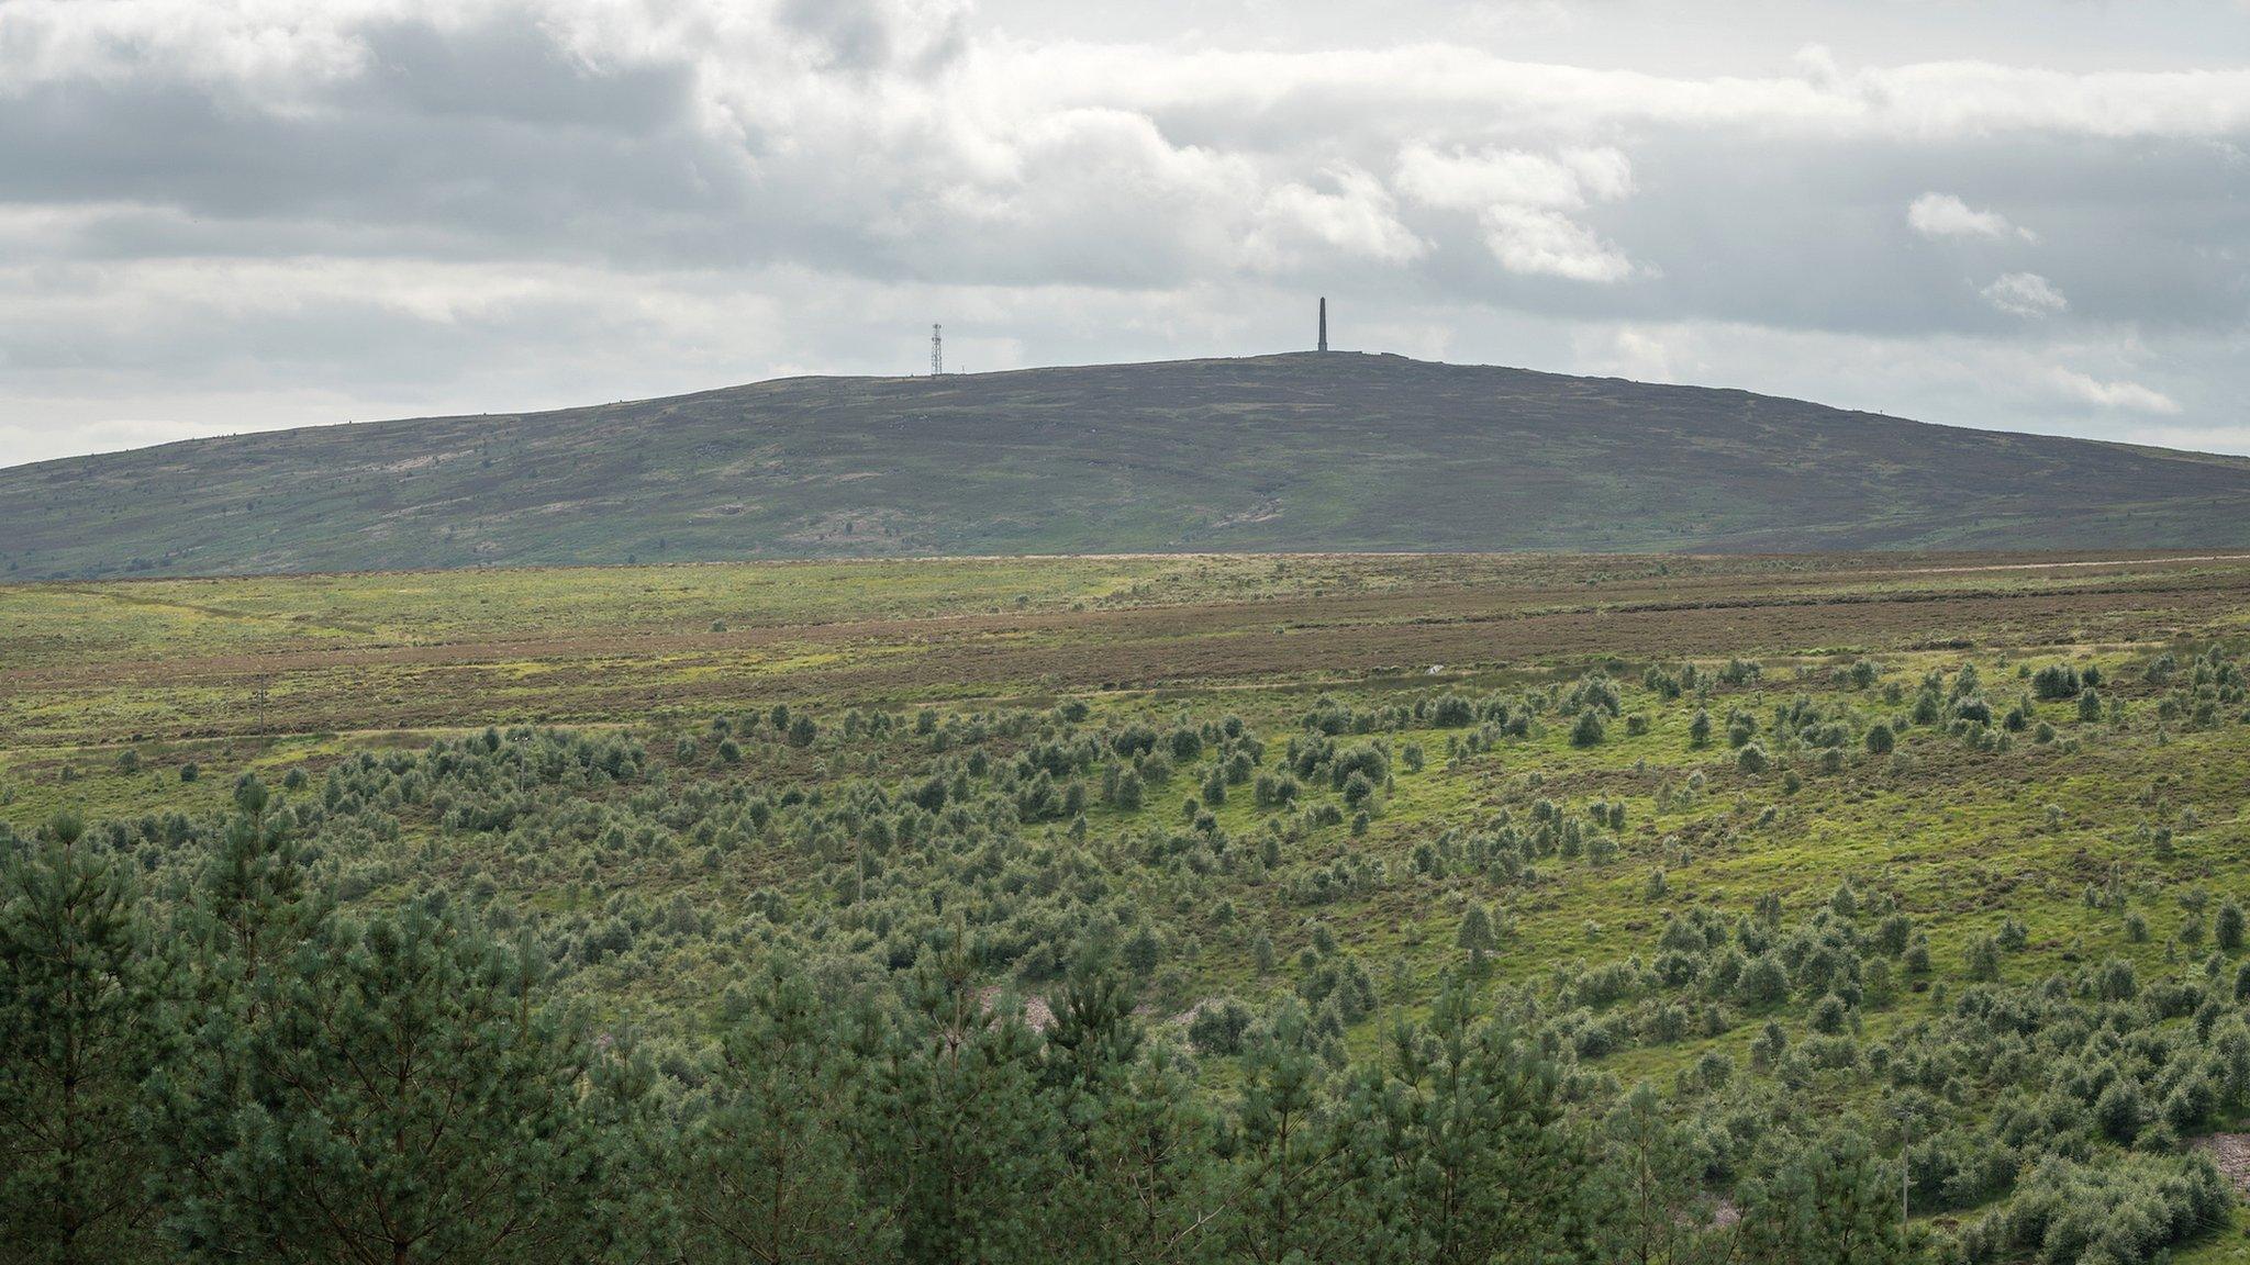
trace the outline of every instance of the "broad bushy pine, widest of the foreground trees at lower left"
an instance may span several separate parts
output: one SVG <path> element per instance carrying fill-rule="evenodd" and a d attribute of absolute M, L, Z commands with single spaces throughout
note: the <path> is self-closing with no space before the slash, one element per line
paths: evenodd
<path fill-rule="evenodd" d="M 326 921 L 236 1033 L 243 1098 L 187 1256 L 387 1265 L 592 1258 L 590 1044 L 538 963 L 421 907 Z"/>

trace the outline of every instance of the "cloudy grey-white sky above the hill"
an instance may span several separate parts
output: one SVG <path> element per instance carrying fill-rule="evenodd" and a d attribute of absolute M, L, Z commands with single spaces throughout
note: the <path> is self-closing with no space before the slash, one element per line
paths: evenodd
<path fill-rule="evenodd" d="M 0 464 L 1339 347 L 2250 452 L 2250 0 L 0 0 Z"/>

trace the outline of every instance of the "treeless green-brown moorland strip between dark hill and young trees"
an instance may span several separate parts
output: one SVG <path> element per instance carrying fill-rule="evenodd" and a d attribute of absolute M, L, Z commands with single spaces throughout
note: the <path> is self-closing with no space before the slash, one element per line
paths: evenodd
<path fill-rule="evenodd" d="M 1166 556 L 0 585 L 0 745 L 250 736 L 261 680 L 274 732 L 367 734 L 2241 628 L 2243 563 L 2054 560 Z"/>

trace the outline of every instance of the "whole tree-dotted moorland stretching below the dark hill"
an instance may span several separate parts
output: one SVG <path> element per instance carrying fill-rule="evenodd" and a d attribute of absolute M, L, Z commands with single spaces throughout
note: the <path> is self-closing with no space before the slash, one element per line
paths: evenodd
<path fill-rule="evenodd" d="M 97 909 L 101 1056 L 4 1051 L 88 1130 L 7 1195 L 86 1260 L 2250 1258 L 2246 621 L 2212 551 L 0 587 L 0 959 Z"/>

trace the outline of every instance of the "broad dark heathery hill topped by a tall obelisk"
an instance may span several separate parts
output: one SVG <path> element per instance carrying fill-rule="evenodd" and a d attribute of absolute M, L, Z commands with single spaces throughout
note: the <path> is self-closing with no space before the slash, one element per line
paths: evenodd
<path fill-rule="evenodd" d="M 1292 353 L 788 378 L 0 470 L 11 578 L 844 554 L 2250 542 L 2250 459 Z"/>

